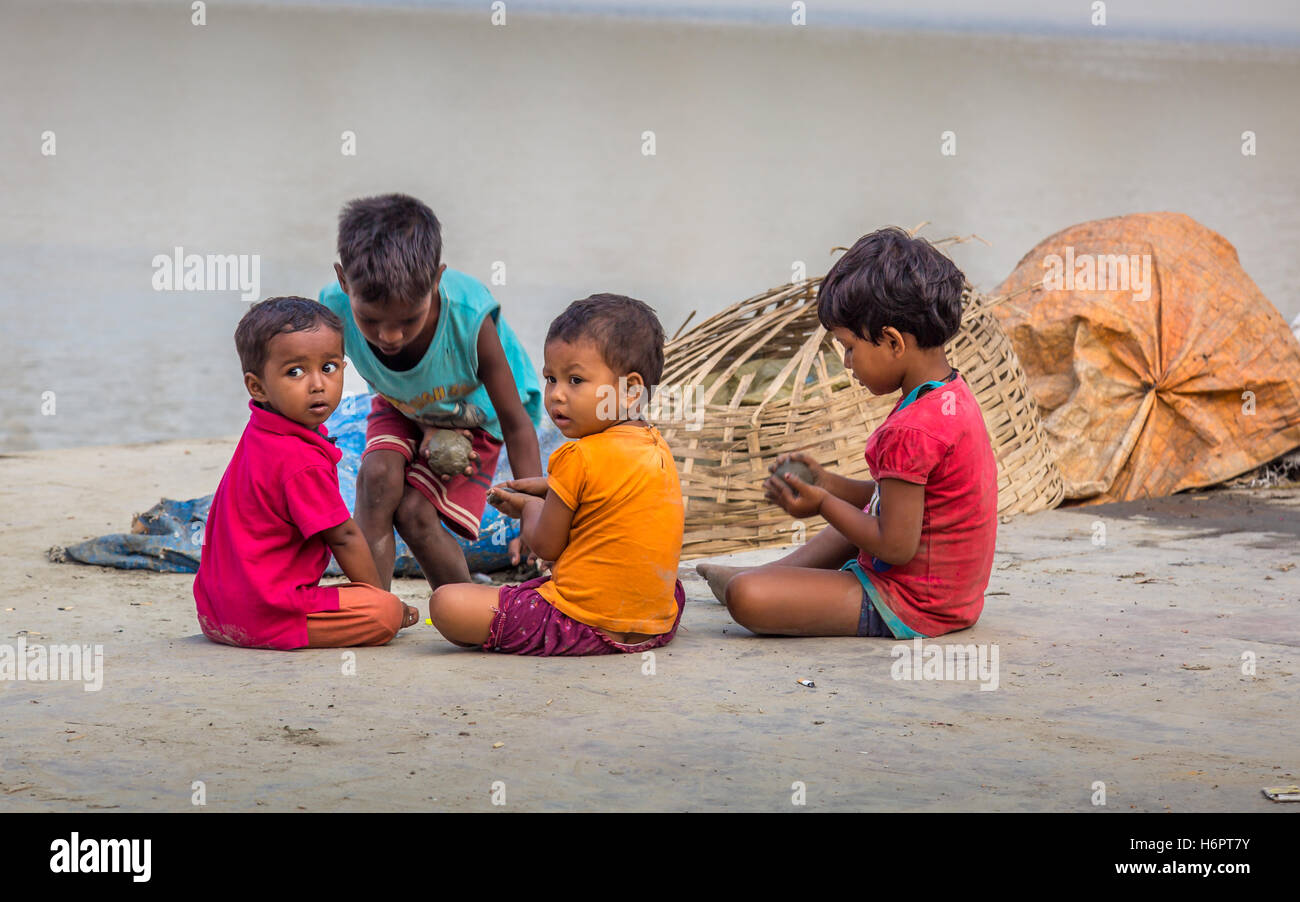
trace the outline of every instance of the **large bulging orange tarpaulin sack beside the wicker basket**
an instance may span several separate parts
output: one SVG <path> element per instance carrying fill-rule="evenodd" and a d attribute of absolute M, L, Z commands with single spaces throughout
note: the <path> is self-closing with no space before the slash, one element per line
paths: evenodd
<path fill-rule="evenodd" d="M 1236 250 L 1188 216 L 1071 226 L 994 294 L 1013 295 L 992 309 L 1067 499 L 1170 495 L 1300 446 L 1300 343 Z"/>

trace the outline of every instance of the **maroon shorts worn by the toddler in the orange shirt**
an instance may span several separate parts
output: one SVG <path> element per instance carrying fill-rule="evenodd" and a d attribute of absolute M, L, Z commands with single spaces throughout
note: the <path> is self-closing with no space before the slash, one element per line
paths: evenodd
<path fill-rule="evenodd" d="M 491 619 L 485 651 L 508 655 L 619 655 L 647 651 L 672 642 L 686 606 L 686 590 L 677 581 L 675 599 L 677 619 L 672 629 L 638 645 L 623 645 L 594 626 L 573 620 L 537 594 L 537 586 L 549 576 L 517 586 L 502 586 L 497 595 L 497 613 Z"/>

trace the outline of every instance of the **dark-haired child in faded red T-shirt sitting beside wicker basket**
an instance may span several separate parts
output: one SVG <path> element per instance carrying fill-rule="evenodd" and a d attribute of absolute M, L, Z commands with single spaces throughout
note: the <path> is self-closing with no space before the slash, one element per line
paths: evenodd
<path fill-rule="evenodd" d="M 997 538 L 997 461 L 970 387 L 944 343 L 961 326 L 963 277 L 900 229 L 858 240 L 822 282 L 818 317 L 844 365 L 875 395 L 902 398 L 866 446 L 872 480 L 831 473 L 802 452 L 811 482 L 774 476 L 764 494 L 829 524 L 755 568 L 701 564 L 742 626 L 768 636 L 935 637 L 984 607 Z"/>

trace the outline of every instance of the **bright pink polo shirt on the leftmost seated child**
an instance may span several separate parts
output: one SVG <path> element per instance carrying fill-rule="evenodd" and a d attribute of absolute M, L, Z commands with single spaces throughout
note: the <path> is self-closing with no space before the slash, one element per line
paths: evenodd
<path fill-rule="evenodd" d="M 320 586 L 330 551 L 320 533 L 351 515 L 338 494 L 343 454 L 316 430 L 248 402 L 252 416 L 204 529 L 194 602 L 213 642 L 307 646 L 307 615 L 338 610 Z"/>

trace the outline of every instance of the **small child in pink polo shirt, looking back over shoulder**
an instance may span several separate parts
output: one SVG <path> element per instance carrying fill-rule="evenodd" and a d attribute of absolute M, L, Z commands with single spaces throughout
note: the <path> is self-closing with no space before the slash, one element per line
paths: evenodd
<path fill-rule="evenodd" d="M 212 498 L 194 600 L 213 642 L 251 649 L 386 645 L 419 619 L 378 589 L 338 491 L 321 425 L 343 394 L 343 324 L 313 300 L 270 298 L 235 329 L 251 417 Z M 351 582 L 321 586 L 330 552 Z"/>

